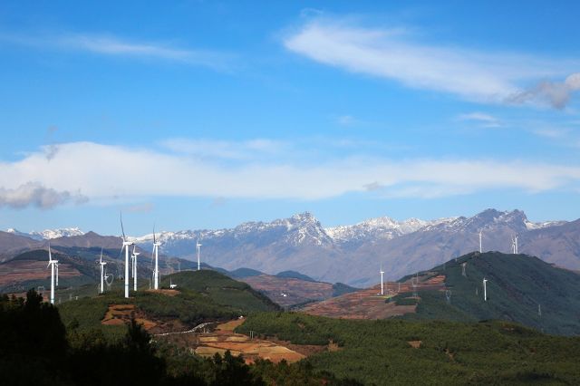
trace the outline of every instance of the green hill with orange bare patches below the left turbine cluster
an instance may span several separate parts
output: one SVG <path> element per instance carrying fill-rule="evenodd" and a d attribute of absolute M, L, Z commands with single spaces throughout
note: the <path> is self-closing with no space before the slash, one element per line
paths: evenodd
<path fill-rule="evenodd" d="M 169 288 L 169 284 L 177 285 Z M 63 323 L 78 323 L 78 328 L 99 328 L 117 333 L 131 314 L 152 333 L 187 330 L 205 322 L 237 319 L 255 311 L 277 310 L 277 304 L 249 285 L 237 282 L 216 271 L 186 271 L 167 275 L 161 290 L 140 286 L 131 297 L 121 293 L 121 283 L 111 292 L 85 296 L 60 304 Z M 132 288 L 131 288 L 132 289 Z"/>

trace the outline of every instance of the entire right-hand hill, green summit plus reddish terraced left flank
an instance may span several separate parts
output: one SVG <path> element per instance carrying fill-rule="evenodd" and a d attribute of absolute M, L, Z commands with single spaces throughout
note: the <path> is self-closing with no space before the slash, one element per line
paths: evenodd
<path fill-rule="evenodd" d="M 488 279 L 487 301 L 483 300 L 484 276 Z M 387 283 L 384 295 L 375 285 L 310 304 L 304 311 L 354 319 L 399 316 L 467 323 L 499 319 L 546 333 L 577 335 L 580 275 L 534 256 L 471 253 Z"/>

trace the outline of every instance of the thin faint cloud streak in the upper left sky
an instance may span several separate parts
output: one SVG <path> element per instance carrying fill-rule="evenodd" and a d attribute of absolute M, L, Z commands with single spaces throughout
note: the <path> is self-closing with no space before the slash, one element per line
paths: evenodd
<path fill-rule="evenodd" d="M 43 36 L 3 34 L 0 35 L 0 41 L 43 49 L 160 59 L 215 68 L 227 68 L 232 59 L 229 53 L 180 48 L 169 43 L 140 42 L 112 34 L 48 34 Z"/>

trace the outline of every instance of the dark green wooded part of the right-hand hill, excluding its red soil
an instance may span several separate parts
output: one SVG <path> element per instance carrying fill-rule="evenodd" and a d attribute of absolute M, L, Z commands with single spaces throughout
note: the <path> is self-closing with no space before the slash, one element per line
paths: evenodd
<path fill-rule="evenodd" d="M 407 319 L 501 319 L 546 333 L 580 334 L 580 275 L 537 257 L 472 253 L 421 275 L 445 275 L 450 299 L 448 302 L 442 291 L 420 291 L 417 313 L 405 315 Z M 484 276 L 488 279 L 487 302 L 483 300 Z M 401 301 L 408 295 L 401 294 L 394 300 Z"/>

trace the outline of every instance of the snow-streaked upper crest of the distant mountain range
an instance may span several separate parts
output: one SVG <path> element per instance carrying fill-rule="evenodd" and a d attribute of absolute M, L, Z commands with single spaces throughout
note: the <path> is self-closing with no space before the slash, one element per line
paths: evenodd
<path fill-rule="evenodd" d="M 355 225 L 324 228 L 310 212 L 292 217 L 279 218 L 271 222 L 249 221 L 237 227 L 218 230 L 183 230 L 178 232 L 158 232 L 157 239 L 161 249 L 171 248 L 176 243 L 191 243 L 200 237 L 207 245 L 219 243 L 249 243 L 255 246 L 285 244 L 288 246 L 334 246 L 361 245 L 410 235 L 414 232 L 478 232 L 483 229 L 507 227 L 514 232 L 561 225 L 563 222 L 551 221 L 532 223 L 521 210 L 498 211 L 487 209 L 473 217 L 444 217 L 434 220 L 409 218 L 403 221 L 391 217 L 375 217 Z M 140 245 L 150 245 L 153 235 L 131 237 Z M 229 241 L 227 241 L 229 240 Z M 190 247 L 190 246 L 189 246 Z"/>

